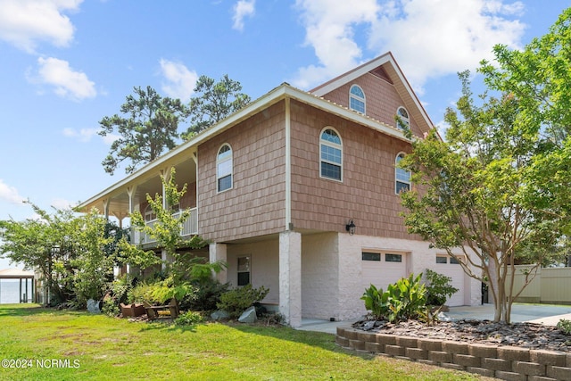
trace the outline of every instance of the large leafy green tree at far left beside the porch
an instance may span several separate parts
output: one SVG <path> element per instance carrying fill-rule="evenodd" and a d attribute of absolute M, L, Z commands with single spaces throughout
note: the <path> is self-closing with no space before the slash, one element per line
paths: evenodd
<path fill-rule="evenodd" d="M 41 274 L 50 293 L 48 303 L 84 307 L 87 299 L 103 297 L 118 262 L 114 242 L 120 229 L 95 210 L 84 215 L 70 209 L 48 213 L 30 205 L 37 218 L 0 221 L 0 254 Z"/>

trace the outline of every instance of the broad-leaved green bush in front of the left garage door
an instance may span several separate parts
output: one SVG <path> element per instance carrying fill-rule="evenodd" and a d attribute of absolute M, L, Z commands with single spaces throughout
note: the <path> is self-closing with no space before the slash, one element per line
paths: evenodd
<path fill-rule="evenodd" d="M 375 319 L 387 319 L 395 323 L 407 319 L 424 319 L 426 317 L 426 288 L 420 282 L 422 273 L 414 277 L 402 277 L 389 285 L 386 291 L 371 285 L 365 290 L 361 300 L 365 308 L 371 311 Z"/>

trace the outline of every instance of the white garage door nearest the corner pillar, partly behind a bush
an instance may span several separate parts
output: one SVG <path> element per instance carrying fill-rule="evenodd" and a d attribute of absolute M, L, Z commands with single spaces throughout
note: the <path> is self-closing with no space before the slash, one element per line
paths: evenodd
<path fill-rule="evenodd" d="M 361 284 L 363 290 L 371 284 L 383 291 L 401 277 L 407 277 L 406 255 L 402 253 L 362 253 Z"/>

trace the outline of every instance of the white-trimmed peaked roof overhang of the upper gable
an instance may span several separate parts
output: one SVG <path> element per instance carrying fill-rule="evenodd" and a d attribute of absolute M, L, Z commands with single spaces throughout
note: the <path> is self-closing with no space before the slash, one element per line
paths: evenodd
<path fill-rule="evenodd" d="M 417 120 L 418 128 L 420 128 L 423 133 L 434 128 L 432 120 L 428 117 L 426 110 L 418 100 L 412 87 L 410 87 L 409 81 L 402 73 L 399 64 L 394 60 L 391 52 L 383 54 L 369 62 L 365 62 L 357 68 L 349 70 L 335 79 L 331 79 L 319 85 L 319 87 L 311 89 L 310 93 L 327 99 L 327 94 L 366 74 L 375 75 L 393 85 L 397 93 L 401 96 L 404 106 L 410 112 L 412 118 Z"/>

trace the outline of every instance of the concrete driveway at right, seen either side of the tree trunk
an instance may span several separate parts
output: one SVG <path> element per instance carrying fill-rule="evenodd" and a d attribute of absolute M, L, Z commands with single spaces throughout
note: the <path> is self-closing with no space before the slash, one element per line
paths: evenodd
<path fill-rule="evenodd" d="M 451 307 L 450 311 L 444 314 L 451 319 L 492 320 L 493 304 Z M 511 307 L 512 323 L 525 321 L 546 326 L 556 326 L 560 319 L 571 320 L 571 306 L 514 303 Z"/>

